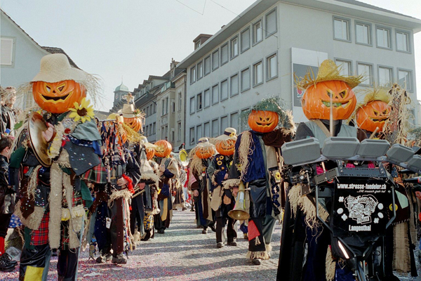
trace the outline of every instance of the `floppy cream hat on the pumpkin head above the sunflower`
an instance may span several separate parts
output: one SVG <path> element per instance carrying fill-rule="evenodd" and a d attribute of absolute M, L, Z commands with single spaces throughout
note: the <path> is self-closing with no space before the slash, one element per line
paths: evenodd
<path fill-rule="evenodd" d="M 88 74 L 83 70 L 72 67 L 67 56 L 53 53 L 41 58 L 41 67 L 32 82 L 44 81 L 56 83 L 63 80 L 74 80 L 78 83 L 88 80 Z"/>

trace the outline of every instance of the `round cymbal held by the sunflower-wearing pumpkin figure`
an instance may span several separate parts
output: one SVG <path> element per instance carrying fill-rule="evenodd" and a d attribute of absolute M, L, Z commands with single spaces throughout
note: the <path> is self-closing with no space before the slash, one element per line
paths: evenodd
<path fill-rule="evenodd" d="M 42 132 L 48 129 L 46 122 L 38 112 L 32 112 L 29 115 L 28 132 L 29 141 L 36 159 L 42 166 L 51 166 L 51 159 L 48 157 L 48 143 Z"/>

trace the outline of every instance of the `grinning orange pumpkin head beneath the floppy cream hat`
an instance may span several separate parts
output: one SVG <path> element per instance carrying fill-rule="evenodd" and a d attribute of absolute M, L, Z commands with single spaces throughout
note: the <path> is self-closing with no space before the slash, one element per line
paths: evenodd
<path fill-rule="evenodd" d="M 35 103 L 43 110 L 51 113 L 67 112 L 74 107 L 74 102 L 80 103 L 86 97 L 86 89 L 73 80 L 56 83 L 36 81 L 32 83 L 32 95 Z"/>

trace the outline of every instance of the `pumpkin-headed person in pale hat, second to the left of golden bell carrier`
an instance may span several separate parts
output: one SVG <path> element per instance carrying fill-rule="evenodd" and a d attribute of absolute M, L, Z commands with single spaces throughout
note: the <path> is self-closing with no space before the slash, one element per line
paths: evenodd
<path fill-rule="evenodd" d="M 213 211 L 210 208 L 209 180 L 206 169 L 210 157 L 215 155 L 215 145 L 209 143 L 208 138 L 199 138 L 199 142 L 189 154 L 190 162 L 190 190 L 193 192 L 194 209 L 196 211 L 196 225 L 203 228 L 202 233 L 208 233 L 208 227 L 215 231 Z"/>

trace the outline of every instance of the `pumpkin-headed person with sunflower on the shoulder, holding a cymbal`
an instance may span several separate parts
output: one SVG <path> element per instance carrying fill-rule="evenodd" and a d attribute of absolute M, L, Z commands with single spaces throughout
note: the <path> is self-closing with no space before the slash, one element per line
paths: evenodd
<path fill-rule="evenodd" d="M 58 280 L 76 280 L 81 230 L 91 201 L 81 176 L 100 164 L 101 137 L 93 122 L 98 80 L 71 67 L 66 55 L 41 59 L 29 83 L 41 110 L 18 123 L 9 178 L 20 200 L 15 214 L 25 226 L 20 280 L 47 280 L 51 249 L 60 249 Z"/>

